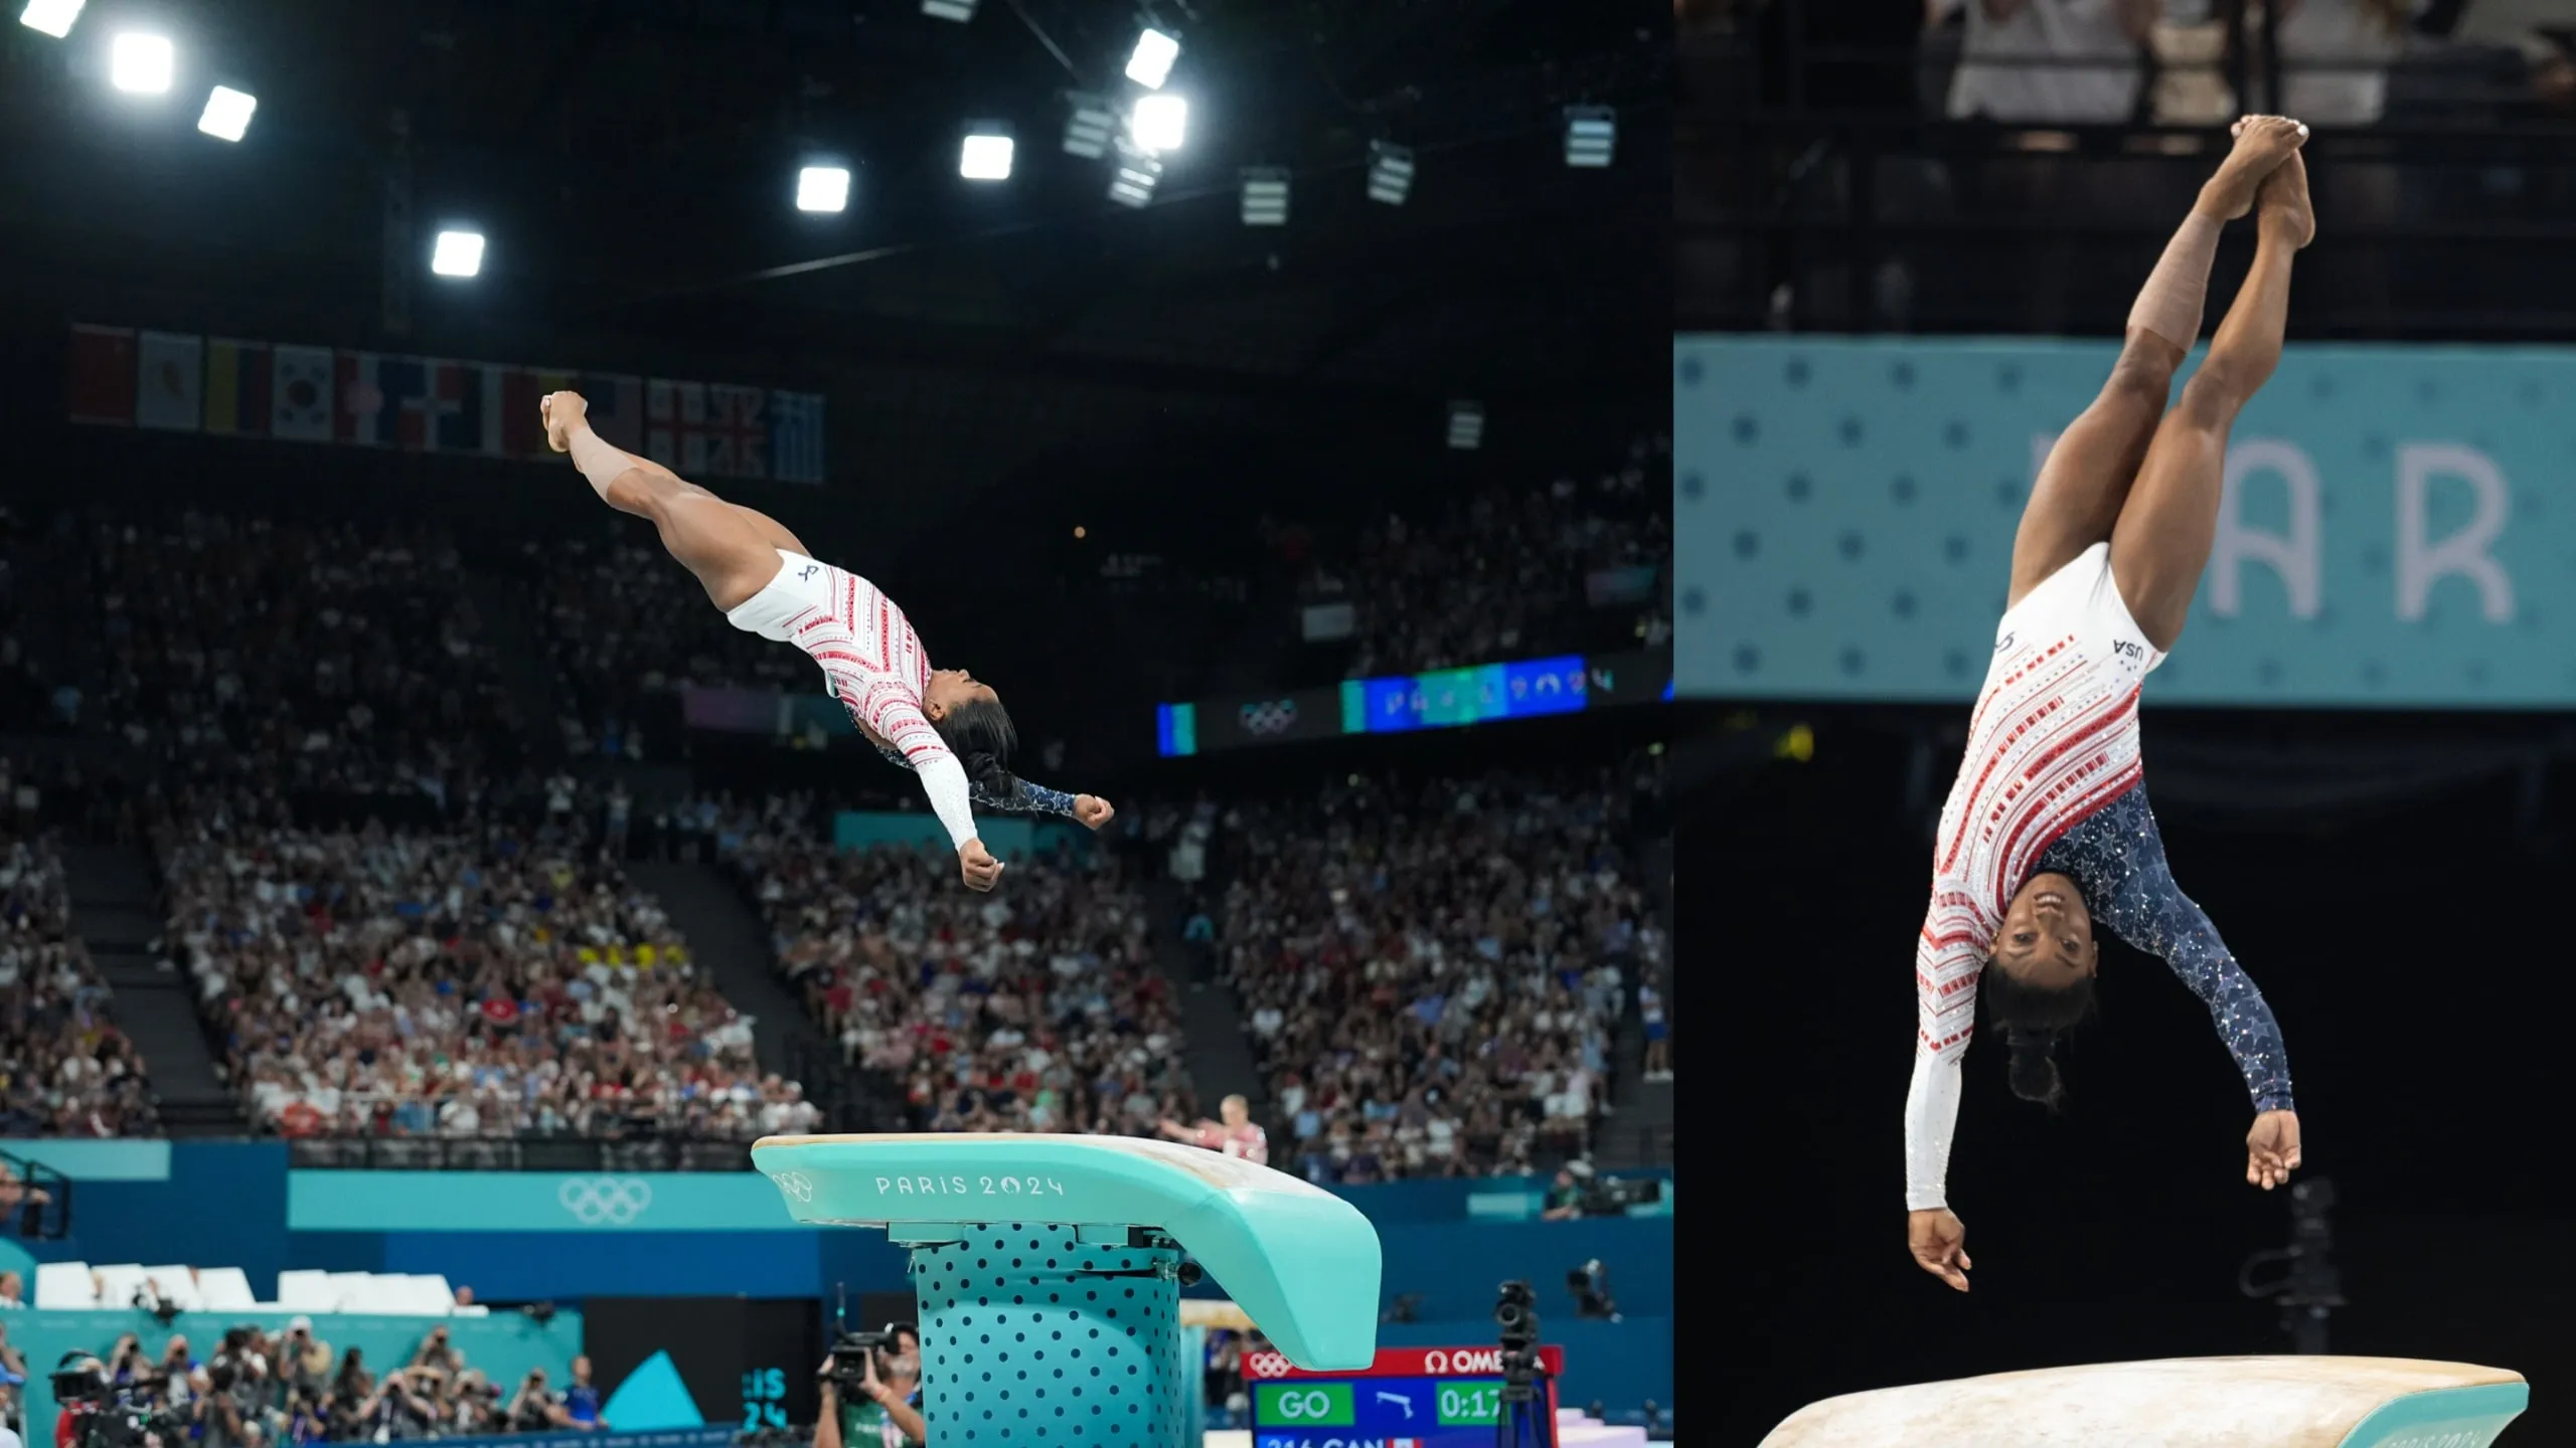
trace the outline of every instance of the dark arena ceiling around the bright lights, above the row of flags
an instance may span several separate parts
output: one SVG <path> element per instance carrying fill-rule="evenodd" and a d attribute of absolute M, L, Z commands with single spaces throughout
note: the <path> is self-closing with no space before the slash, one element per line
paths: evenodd
<path fill-rule="evenodd" d="M 1066 93 L 1131 90 L 1146 21 L 1190 142 L 1136 211 L 1061 131 Z M 173 36 L 173 95 L 103 85 L 126 23 Z M 260 98 L 242 144 L 193 131 L 209 82 Z M 1618 108 L 1610 170 L 1564 165 L 1569 103 Z M 969 121 L 1012 129 L 1012 180 L 956 175 Z M 1656 0 L 90 0 L 70 41 L 0 36 L 0 304 L 631 371 L 1548 399 L 1662 379 L 1667 134 Z M 1370 142 L 1412 147 L 1404 206 L 1365 198 Z M 845 214 L 791 206 L 817 157 L 855 170 Z M 1285 227 L 1242 224 L 1247 165 L 1293 173 Z M 469 286 L 407 268 L 451 219 L 492 240 Z"/>

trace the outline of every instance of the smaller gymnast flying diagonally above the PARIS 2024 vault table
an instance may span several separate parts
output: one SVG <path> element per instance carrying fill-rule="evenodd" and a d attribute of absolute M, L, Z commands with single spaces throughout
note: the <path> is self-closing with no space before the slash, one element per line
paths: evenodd
<path fill-rule="evenodd" d="M 1018 734 L 1002 698 L 966 670 L 930 667 L 912 621 L 873 582 L 814 562 L 775 518 L 600 441 L 577 392 L 551 392 L 538 410 L 546 446 L 572 453 L 603 502 L 649 518 L 734 629 L 796 644 L 822 665 L 832 698 L 876 752 L 920 776 L 969 889 L 1002 879 L 1002 861 L 976 837 L 976 804 L 1064 814 L 1092 830 L 1110 822 L 1100 796 L 1059 794 L 1010 773 Z"/>

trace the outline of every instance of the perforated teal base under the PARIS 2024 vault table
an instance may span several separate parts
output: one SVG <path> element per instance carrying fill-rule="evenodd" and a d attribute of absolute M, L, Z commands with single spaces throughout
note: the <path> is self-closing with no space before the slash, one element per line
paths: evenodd
<path fill-rule="evenodd" d="M 1167 1237 L 987 1224 L 912 1237 L 930 1448 L 1195 1448 Z M 927 1232 L 920 1237 L 930 1237 Z M 1090 1237 L 1090 1242 L 1087 1242 Z"/>

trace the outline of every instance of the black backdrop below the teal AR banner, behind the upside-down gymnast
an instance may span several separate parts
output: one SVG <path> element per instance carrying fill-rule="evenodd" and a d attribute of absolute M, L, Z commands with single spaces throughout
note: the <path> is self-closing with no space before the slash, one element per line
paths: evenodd
<path fill-rule="evenodd" d="M 1808 763 L 1772 752 L 1795 724 Z M 2244 1085 L 2200 1002 L 2115 940 L 2063 1116 L 2009 1095 L 1996 1043 L 1968 1051 L 1950 1206 L 1973 1291 L 1911 1265 L 1904 976 L 1963 727 L 1690 709 L 1677 850 L 1723 891 L 1685 891 L 1677 938 L 1741 992 L 1726 1092 L 1682 1123 L 1726 1141 L 1698 1260 L 1752 1327 L 1723 1358 L 1718 1443 L 1891 1384 L 2290 1350 L 2280 1311 L 2239 1293 L 2244 1260 L 2290 1239 L 2287 1193 L 2244 1183 Z M 2280 1018 L 2300 1180 L 2342 1198 L 2329 1350 L 2512 1366 L 2537 1386 L 2509 1440 L 2558 1440 L 2576 1425 L 2553 1391 L 2576 1373 L 2555 1159 L 2566 724 L 2148 709 L 2143 732 L 2174 873 Z"/>

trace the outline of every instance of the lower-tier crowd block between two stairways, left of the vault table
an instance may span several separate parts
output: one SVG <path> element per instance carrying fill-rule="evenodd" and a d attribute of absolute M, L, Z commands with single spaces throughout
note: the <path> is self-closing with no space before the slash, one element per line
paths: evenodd
<path fill-rule="evenodd" d="M 585 830 L 170 824 L 165 946 L 286 1136 L 801 1131 L 752 1020 Z"/>

